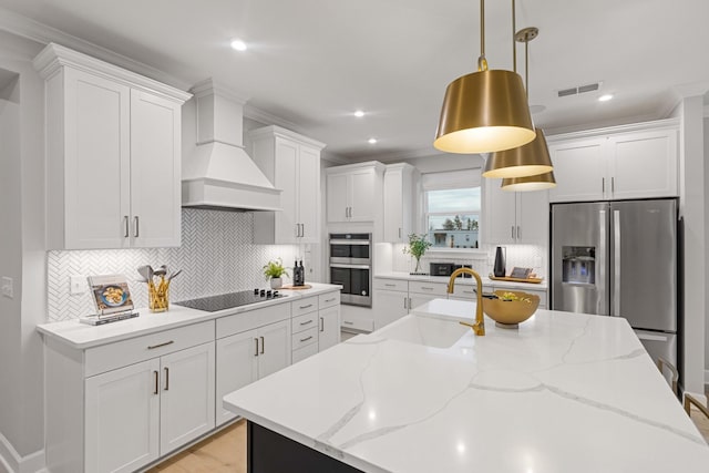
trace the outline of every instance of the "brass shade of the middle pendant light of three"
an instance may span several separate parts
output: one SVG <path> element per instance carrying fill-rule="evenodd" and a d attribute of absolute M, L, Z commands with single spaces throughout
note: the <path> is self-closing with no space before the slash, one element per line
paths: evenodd
<path fill-rule="evenodd" d="M 485 162 L 484 177 L 525 177 L 548 173 L 554 167 L 542 128 L 524 146 L 492 154 Z"/>

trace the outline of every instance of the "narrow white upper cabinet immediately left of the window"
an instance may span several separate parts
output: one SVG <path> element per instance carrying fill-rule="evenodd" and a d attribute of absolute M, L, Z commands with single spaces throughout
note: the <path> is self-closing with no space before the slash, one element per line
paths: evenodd
<path fill-rule="evenodd" d="M 384 171 L 383 240 L 408 243 L 415 233 L 419 172 L 410 164 L 390 164 Z"/>

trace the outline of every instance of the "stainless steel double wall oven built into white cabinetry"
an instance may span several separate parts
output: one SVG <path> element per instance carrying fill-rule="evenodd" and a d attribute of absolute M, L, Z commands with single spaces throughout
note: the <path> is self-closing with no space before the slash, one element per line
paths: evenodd
<path fill-rule="evenodd" d="M 341 301 L 372 306 L 372 234 L 330 234 L 330 282 L 342 286 Z"/>

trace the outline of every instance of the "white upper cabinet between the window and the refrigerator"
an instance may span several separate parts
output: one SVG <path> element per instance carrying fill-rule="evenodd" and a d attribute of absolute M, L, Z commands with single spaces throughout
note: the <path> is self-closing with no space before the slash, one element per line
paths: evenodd
<path fill-rule="evenodd" d="M 549 200 L 547 191 L 505 192 L 500 179 L 485 181 L 483 232 L 487 244 L 548 243 Z"/>

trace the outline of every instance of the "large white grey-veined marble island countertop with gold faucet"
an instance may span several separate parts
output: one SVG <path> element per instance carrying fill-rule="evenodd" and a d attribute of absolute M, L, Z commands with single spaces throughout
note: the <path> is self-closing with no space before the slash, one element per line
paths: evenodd
<path fill-rule="evenodd" d="M 435 299 L 418 309 L 425 317 L 354 337 L 224 404 L 366 472 L 708 471 L 709 448 L 625 319 L 537 310 L 518 330 L 486 319 L 486 336 L 465 329 L 449 348 L 402 341 L 412 321 L 454 330 L 438 318 L 471 318 L 474 306 Z"/>

